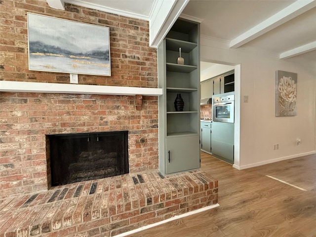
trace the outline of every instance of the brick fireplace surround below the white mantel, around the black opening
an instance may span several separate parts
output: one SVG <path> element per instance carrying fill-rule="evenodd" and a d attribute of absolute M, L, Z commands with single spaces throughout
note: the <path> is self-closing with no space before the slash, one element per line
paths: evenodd
<path fill-rule="evenodd" d="M 1 92 L 0 196 L 50 188 L 47 134 L 127 130 L 129 171 L 158 169 L 157 96 L 142 101 L 136 110 L 135 96 Z"/>

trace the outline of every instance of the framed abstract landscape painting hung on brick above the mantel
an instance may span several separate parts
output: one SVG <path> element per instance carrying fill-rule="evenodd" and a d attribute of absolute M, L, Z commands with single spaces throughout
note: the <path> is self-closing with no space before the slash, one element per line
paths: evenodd
<path fill-rule="evenodd" d="M 111 76 L 110 28 L 28 13 L 29 70 Z"/>

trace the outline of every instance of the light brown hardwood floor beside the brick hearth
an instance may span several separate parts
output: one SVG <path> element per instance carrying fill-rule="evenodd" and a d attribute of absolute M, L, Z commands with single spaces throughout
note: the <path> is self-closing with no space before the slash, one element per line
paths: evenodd
<path fill-rule="evenodd" d="M 316 237 L 316 155 L 237 170 L 201 152 L 201 169 L 219 207 L 128 237 Z"/>

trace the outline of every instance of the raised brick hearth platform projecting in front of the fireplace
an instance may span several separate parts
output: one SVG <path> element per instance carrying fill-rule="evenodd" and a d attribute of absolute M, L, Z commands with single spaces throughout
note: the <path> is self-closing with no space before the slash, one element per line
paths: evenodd
<path fill-rule="evenodd" d="M 57 186 L 0 200 L 0 237 L 111 237 L 217 203 L 202 171 L 157 170 Z"/>

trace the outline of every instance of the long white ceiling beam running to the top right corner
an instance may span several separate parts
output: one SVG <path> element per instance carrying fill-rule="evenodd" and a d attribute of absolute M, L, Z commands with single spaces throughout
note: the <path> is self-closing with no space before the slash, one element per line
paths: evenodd
<path fill-rule="evenodd" d="M 241 45 L 256 39 L 257 37 L 275 29 L 283 23 L 295 18 L 296 16 L 312 9 L 316 6 L 316 0 L 297 0 L 283 10 L 264 20 L 260 24 L 241 34 L 230 42 L 231 48 L 237 48 Z"/>

